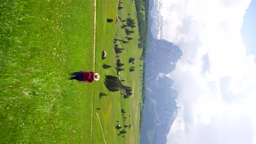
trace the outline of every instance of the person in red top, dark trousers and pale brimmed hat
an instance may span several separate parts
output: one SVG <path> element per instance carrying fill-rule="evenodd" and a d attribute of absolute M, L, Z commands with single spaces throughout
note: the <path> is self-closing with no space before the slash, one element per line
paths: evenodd
<path fill-rule="evenodd" d="M 75 75 L 71 77 L 69 80 L 78 80 L 79 82 L 94 82 L 100 80 L 100 75 L 98 73 L 89 72 L 89 71 L 77 71 L 72 73 L 71 75 Z"/>

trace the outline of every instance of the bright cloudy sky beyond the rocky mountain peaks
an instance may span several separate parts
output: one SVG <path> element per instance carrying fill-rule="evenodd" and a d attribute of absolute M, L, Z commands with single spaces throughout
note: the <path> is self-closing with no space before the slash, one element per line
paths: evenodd
<path fill-rule="evenodd" d="M 181 109 L 167 143 L 256 143 L 256 52 L 249 40 L 255 34 L 248 34 L 255 32 L 248 23 L 256 13 L 250 8 L 246 15 L 250 3 L 160 0 L 161 38 L 183 51 L 168 74 Z"/>

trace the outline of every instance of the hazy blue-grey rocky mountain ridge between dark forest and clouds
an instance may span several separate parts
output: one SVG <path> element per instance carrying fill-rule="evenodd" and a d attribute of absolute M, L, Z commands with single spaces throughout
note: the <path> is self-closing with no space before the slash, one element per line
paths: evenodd
<path fill-rule="evenodd" d="M 152 10 L 155 2 L 150 1 Z M 146 102 L 143 109 L 143 125 L 141 129 L 140 143 L 166 143 L 166 136 L 176 118 L 178 107 L 176 106 L 177 91 L 171 88 L 173 80 L 166 74 L 171 73 L 182 51 L 178 46 L 164 39 L 155 39 L 153 35 L 159 34 L 160 29 L 152 28 L 160 20 L 156 16 L 159 10 L 156 8 L 154 15 L 149 15 L 149 31 L 147 43 L 146 62 Z M 157 12 L 158 11 L 158 12 Z M 152 12 L 150 12 L 152 14 Z M 155 19 L 154 19 L 155 18 Z M 153 20 L 154 19 L 154 20 Z M 159 22 L 161 23 L 161 22 Z"/>

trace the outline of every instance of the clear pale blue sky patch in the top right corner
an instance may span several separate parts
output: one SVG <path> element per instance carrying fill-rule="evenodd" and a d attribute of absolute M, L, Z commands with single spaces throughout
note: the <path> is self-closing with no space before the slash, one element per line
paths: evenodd
<path fill-rule="evenodd" d="M 246 53 L 256 56 L 256 0 L 251 1 L 243 18 L 241 33 L 246 46 Z M 254 62 L 256 62 L 255 59 Z"/>

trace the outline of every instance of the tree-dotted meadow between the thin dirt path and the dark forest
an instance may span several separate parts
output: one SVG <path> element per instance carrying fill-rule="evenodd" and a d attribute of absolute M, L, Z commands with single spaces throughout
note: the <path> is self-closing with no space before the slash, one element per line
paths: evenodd
<path fill-rule="evenodd" d="M 119 5 L 118 5 L 119 4 Z M 118 7 L 123 7 L 118 10 Z M 119 21 L 115 24 L 116 16 Z M 134 31 L 134 33 L 127 35 L 125 29 L 122 28 L 126 24 L 126 19 L 131 18 L 135 20 L 136 27 L 126 27 Z M 107 22 L 107 19 L 114 20 Z M 132 40 L 127 40 L 127 37 Z M 136 18 L 135 3 L 132 1 L 105 1 L 97 2 L 97 30 L 96 30 L 96 71 L 101 74 L 101 85 L 97 85 L 97 94 L 95 97 L 95 113 L 98 113 L 100 118 L 103 134 L 100 128 L 100 122 L 96 115 L 94 115 L 94 143 L 139 143 L 139 103 L 141 100 L 141 85 L 142 85 L 142 69 L 139 65 L 143 65 L 143 61 L 139 60 L 142 49 L 138 49 L 138 26 Z M 114 39 L 117 39 L 114 43 Z M 129 43 L 123 43 L 128 41 Z M 119 48 L 124 49 L 121 53 L 115 53 L 114 44 Z M 101 59 L 101 52 L 107 51 L 106 59 Z M 129 58 L 135 58 L 135 64 L 129 64 Z M 120 71 L 120 76 L 117 73 L 117 59 L 120 59 L 124 64 L 123 71 Z M 103 64 L 112 66 L 108 69 L 103 69 Z M 129 69 L 135 67 L 135 71 L 130 73 Z M 103 80 L 105 75 L 113 75 L 120 77 L 125 86 L 130 86 L 133 91 L 129 98 L 124 98 L 120 92 L 109 92 L 104 86 Z M 103 79 L 102 79 L 103 78 Z M 136 80 L 137 79 L 137 80 Z M 106 93 L 107 96 L 99 97 L 98 94 Z M 121 109 L 126 113 L 122 115 Z M 131 118 L 129 118 L 131 115 Z M 124 117 L 126 120 L 124 121 Z M 121 129 L 115 129 L 115 125 L 120 124 Z M 131 124 L 131 128 L 124 128 L 124 125 Z M 125 134 L 120 134 L 121 130 L 127 131 Z"/>

